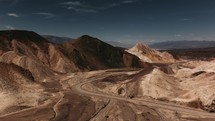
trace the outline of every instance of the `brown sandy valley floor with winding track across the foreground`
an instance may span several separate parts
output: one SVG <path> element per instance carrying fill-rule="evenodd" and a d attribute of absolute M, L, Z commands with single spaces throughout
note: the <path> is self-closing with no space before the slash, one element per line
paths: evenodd
<path fill-rule="evenodd" d="M 209 120 L 209 118 L 211 120 L 215 119 L 213 113 L 201 109 L 157 101 L 152 98 L 128 98 L 111 94 L 112 92 L 109 94 L 108 92 L 98 91 L 99 89 L 95 89 L 95 86 L 89 88 L 92 86 L 92 82 L 99 82 L 110 75 L 127 74 L 132 76 L 138 73 L 142 73 L 142 71 L 120 69 L 67 74 L 64 75 L 64 78 L 55 77 L 59 78 L 59 82 L 64 89 L 57 89 L 58 92 L 52 92 L 52 95 L 39 105 L 1 115 L 0 120 L 117 121 L 128 119 L 130 121 L 204 121 Z M 67 88 L 65 85 L 67 85 Z"/>

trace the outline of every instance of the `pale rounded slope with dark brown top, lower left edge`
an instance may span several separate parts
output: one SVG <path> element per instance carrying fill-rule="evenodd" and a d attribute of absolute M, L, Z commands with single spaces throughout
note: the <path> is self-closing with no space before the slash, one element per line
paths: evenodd
<path fill-rule="evenodd" d="M 44 96 L 42 90 L 30 71 L 0 62 L 0 115 L 36 106 Z"/>

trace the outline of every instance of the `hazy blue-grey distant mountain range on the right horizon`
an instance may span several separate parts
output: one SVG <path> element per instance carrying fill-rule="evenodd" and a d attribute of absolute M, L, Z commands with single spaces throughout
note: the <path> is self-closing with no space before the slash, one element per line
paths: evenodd
<path fill-rule="evenodd" d="M 207 48 L 207 47 L 215 47 L 215 41 L 198 41 L 198 40 L 166 41 L 166 42 L 153 43 L 149 46 L 151 48 L 161 49 L 161 50 Z"/>

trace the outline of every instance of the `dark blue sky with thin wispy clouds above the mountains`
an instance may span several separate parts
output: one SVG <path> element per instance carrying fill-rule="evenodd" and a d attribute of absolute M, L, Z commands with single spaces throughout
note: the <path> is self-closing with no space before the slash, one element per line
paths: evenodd
<path fill-rule="evenodd" d="M 0 29 L 124 43 L 215 40 L 215 0 L 0 0 Z"/>

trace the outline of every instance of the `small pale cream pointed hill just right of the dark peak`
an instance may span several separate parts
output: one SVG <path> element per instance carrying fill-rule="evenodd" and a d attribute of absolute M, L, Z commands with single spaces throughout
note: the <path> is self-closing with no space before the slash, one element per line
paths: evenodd
<path fill-rule="evenodd" d="M 174 62 L 175 59 L 168 52 L 159 52 L 149 48 L 143 43 L 137 43 L 134 47 L 126 50 L 127 52 L 136 55 L 143 62 L 160 63 L 160 62 Z"/>

